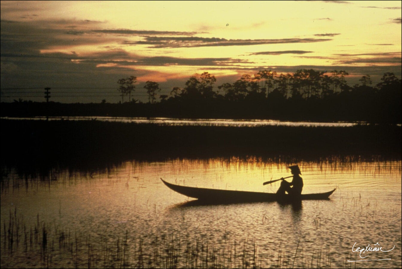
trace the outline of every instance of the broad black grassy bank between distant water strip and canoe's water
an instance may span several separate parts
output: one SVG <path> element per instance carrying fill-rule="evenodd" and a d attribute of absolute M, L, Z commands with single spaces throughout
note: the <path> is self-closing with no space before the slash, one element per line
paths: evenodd
<path fill-rule="evenodd" d="M 2 167 L 104 169 L 124 161 L 247 158 L 263 161 L 401 160 L 401 127 L 161 126 L 1 120 Z"/>

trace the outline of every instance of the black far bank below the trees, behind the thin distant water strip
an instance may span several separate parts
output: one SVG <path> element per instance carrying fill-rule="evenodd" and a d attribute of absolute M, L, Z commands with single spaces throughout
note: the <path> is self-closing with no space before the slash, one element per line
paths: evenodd
<path fill-rule="evenodd" d="M 378 100 L 376 100 L 378 101 Z M 369 122 L 400 124 L 400 105 L 371 104 L 362 100 L 336 102 L 328 100 L 299 100 L 293 102 L 226 102 L 209 100 L 197 102 L 160 102 L 123 104 L 90 103 L 64 104 L 58 102 L 1 103 L 2 117 L 35 116 L 112 116 L 145 118 L 222 118 L 222 119 L 272 119 L 281 121 L 312 122 Z"/>

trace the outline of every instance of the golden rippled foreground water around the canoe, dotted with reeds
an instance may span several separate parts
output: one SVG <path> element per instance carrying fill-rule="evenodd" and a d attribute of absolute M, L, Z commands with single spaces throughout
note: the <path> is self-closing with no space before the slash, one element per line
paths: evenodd
<path fill-rule="evenodd" d="M 287 165 L 254 157 L 129 161 L 103 171 L 54 168 L 45 177 L 3 169 L 1 267 L 401 267 L 401 161 L 299 163 L 303 193 L 337 188 L 330 200 L 301 208 L 197 206 L 160 180 L 275 192 L 279 182 L 262 183 L 290 175 Z M 355 243 L 354 250 L 395 247 L 363 259 Z M 386 260 L 348 262 L 367 259 Z"/>

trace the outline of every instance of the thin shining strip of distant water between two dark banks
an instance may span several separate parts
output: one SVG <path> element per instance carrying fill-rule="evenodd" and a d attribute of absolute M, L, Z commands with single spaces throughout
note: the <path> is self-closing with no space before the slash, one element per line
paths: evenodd
<path fill-rule="evenodd" d="M 8 120 L 46 120 L 46 117 L 31 118 L 1 117 Z M 106 116 L 77 116 L 77 117 L 49 117 L 49 120 L 99 120 L 107 122 L 152 123 L 169 126 L 305 126 L 305 127 L 351 127 L 365 122 L 292 122 L 281 120 L 232 120 L 232 119 L 178 119 L 178 118 L 139 118 L 139 117 L 106 117 Z M 398 125 L 399 126 L 399 125 Z"/>

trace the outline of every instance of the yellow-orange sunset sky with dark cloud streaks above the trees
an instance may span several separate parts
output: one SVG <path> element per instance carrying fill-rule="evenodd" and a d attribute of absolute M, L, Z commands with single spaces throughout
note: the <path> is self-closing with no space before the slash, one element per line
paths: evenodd
<path fill-rule="evenodd" d="M 1 1 L 1 101 L 51 87 L 55 102 L 118 102 L 134 75 L 146 102 L 147 80 L 167 94 L 204 71 L 215 86 L 303 68 L 376 84 L 401 77 L 401 42 L 401 1 Z"/>

